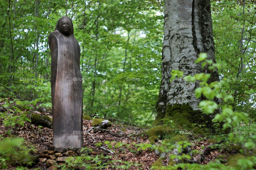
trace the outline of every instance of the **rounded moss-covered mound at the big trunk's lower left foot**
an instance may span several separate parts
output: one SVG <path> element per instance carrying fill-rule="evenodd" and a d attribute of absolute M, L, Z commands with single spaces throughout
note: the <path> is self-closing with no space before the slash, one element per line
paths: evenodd
<path fill-rule="evenodd" d="M 167 135 L 171 135 L 173 133 L 173 129 L 171 129 L 169 126 L 159 125 L 150 128 L 146 132 L 146 135 L 148 136 L 150 143 L 154 144 L 154 142 L 157 142 L 158 139 L 164 139 Z"/>

